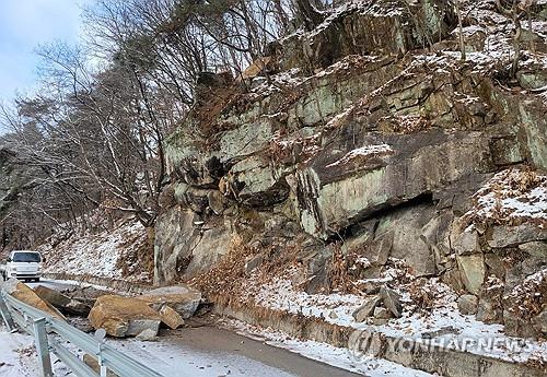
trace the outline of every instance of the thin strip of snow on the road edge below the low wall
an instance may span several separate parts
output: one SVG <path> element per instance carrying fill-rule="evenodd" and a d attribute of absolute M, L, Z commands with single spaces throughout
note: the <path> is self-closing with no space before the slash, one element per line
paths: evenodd
<path fill-rule="evenodd" d="M 348 349 L 336 347 L 330 344 L 311 340 L 301 341 L 272 329 L 263 329 L 238 320 L 225 320 L 224 326 L 236 329 L 245 337 L 265 341 L 266 344 L 286 349 L 304 357 L 315 360 L 341 369 L 362 374 L 370 377 L 376 376 L 432 376 L 428 373 L 404 367 L 386 360 L 375 358 Z"/>

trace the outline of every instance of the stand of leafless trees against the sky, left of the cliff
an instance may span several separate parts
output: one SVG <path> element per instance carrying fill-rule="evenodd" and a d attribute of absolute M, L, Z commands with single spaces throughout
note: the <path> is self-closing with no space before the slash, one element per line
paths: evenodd
<path fill-rule="evenodd" d="M 85 12 L 84 48 L 43 46 L 44 90 L 1 108 L 10 133 L 0 146 L 24 166 L 16 200 L 0 213 L 2 234 L 44 235 L 96 209 L 131 213 L 152 229 L 168 182 L 164 137 L 195 105 L 197 78 L 241 73 L 293 30 L 292 19 L 319 24 L 324 5 L 96 0 Z"/>

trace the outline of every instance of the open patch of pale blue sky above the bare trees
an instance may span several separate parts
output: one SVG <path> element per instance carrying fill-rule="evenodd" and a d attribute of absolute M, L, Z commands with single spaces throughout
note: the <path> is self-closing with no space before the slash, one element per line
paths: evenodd
<path fill-rule="evenodd" d="M 0 101 L 32 93 L 39 44 L 78 42 L 83 0 L 0 0 Z"/>

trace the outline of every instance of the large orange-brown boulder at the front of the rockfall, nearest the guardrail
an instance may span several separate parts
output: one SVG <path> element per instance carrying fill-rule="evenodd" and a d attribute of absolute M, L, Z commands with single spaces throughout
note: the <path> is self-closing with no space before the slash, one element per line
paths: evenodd
<path fill-rule="evenodd" d="M 88 317 L 95 329 L 116 337 L 135 337 L 150 329 L 158 334 L 162 317 L 146 301 L 106 295 L 97 298 Z"/>

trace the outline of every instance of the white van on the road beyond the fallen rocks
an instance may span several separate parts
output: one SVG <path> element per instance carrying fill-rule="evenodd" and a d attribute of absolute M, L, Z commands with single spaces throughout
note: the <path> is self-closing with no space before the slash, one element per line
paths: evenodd
<path fill-rule="evenodd" d="M 38 282 L 44 261 L 38 251 L 13 250 L 5 260 L 5 264 L 0 266 L 0 273 L 3 280 L 16 278 L 23 281 Z"/>

